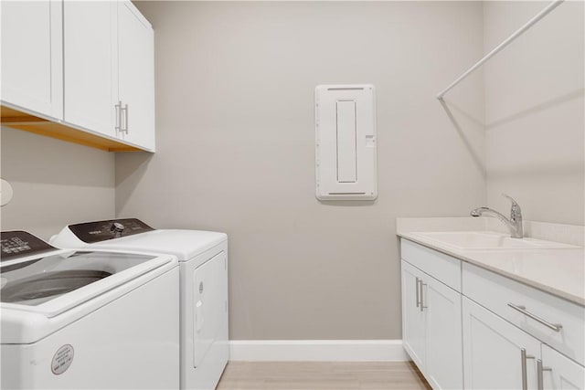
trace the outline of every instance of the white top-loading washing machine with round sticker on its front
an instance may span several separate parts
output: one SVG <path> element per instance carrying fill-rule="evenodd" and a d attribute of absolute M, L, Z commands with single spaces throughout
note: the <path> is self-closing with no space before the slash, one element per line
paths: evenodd
<path fill-rule="evenodd" d="M 0 241 L 2 389 L 178 388 L 176 257 Z"/>

